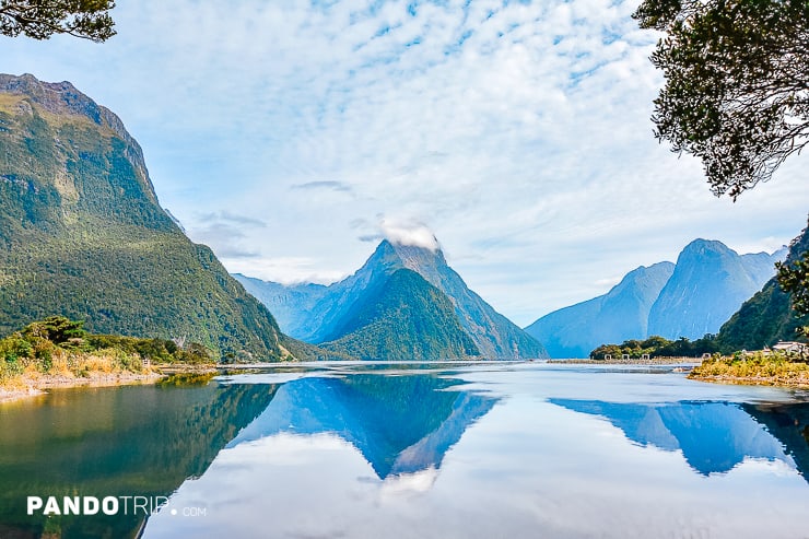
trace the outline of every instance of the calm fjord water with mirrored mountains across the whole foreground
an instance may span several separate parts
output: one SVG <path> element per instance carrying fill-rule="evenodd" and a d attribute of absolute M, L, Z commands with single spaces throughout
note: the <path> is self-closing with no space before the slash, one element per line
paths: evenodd
<path fill-rule="evenodd" d="M 809 537 L 807 399 L 537 363 L 55 391 L 0 407 L 0 537 Z M 169 502 L 25 517 L 66 494 Z"/>

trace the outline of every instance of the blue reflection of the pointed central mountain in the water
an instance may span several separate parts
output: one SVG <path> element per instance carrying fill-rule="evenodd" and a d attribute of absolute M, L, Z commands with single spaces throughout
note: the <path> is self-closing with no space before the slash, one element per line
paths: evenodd
<path fill-rule="evenodd" d="M 228 447 L 278 433 L 332 433 L 380 479 L 441 468 L 446 452 L 497 399 L 429 376 L 353 375 L 284 384 Z"/>

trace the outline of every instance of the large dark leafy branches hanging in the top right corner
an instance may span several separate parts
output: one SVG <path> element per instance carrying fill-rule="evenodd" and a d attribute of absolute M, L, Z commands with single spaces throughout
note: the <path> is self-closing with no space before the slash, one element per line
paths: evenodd
<path fill-rule="evenodd" d="M 809 143 L 809 2 L 644 0 L 633 15 L 666 33 L 655 136 L 700 157 L 736 199 Z"/>

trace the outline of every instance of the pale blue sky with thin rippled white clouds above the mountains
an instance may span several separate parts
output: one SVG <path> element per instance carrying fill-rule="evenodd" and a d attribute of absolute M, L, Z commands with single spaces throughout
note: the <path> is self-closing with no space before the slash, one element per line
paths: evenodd
<path fill-rule="evenodd" d="M 807 224 L 806 155 L 734 203 L 654 138 L 637 3 L 118 0 L 107 43 L 0 37 L 0 72 L 116 113 L 232 272 L 328 283 L 432 233 L 527 326 L 694 238 L 772 251 Z"/>

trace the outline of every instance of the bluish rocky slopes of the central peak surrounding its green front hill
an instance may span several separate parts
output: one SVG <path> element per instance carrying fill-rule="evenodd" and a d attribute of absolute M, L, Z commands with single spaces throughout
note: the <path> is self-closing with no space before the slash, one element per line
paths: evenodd
<path fill-rule="evenodd" d="M 435 295 L 435 292 L 426 292 L 420 288 L 422 300 L 427 296 L 433 298 L 446 296 L 453 306 L 457 323 L 460 324 L 464 331 L 471 338 L 474 348 L 484 358 L 544 356 L 544 349 L 539 342 L 495 312 L 478 294 L 467 288 L 460 276 L 447 266 L 441 249 L 401 245 L 387 239 L 379 244 L 356 273 L 327 286 L 325 291 L 302 289 L 301 286 L 290 288 L 289 294 L 303 295 L 300 300 L 300 310 L 288 318 L 293 323 L 289 327 L 284 327 L 284 330 L 292 337 L 307 342 L 323 343 L 340 340 L 342 345 L 345 345 L 345 340 L 342 338 L 357 329 L 355 318 L 362 308 L 367 305 L 368 297 L 374 297 L 379 290 L 384 289 L 390 277 L 401 269 L 418 273 L 439 292 L 438 295 Z M 243 282 L 245 281 L 243 280 Z M 269 284 L 265 286 L 265 290 L 277 291 L 278 289 Z M 259 298 L 267 301 L 266 305 L 274 309 L 284 302 L 285 297 L 288 296 L 284 293 L 275 292 L 272 295 L 266 294 Z M 385 308 L 379 307 L 376 310 L 377 315 L 382 316 L 383 312 L 385 312 L 385 316 L 392 313 L 403 314 L 399 307 L 407 303 L 406 298 L 397 294 L 392 294 L 390 298 L 392 301 L 391 305 Z M 417 303 L 422 300 L 417 301 Z M 438 301 L 427 310 L 437 307 L 438 313 L 441 313 L 443 307 L 439 307 L 439 304 Z M 423 306 L 426 307 L 427 304 L 423 304 Z M 414 312 L 411 315 L 414 316 Z M 435 315 L 427 312 L 422 312 L 419 315 L 420 318 L 425 320 Z M 377 321 L 382 318 L 377 317 Z M 423 331 L 432 335 L 456 335 L 455 328 L 450 327 L 454 324 L 450 324 L 443 314 L 437 314 L 437 318 L 431 320 L 433 323 L 441 321 L 443 327 L 429 330 L 423 328 Z M 396 325 L 401 324 L 403 324 L 403 319 L 400 317 Z M 417 324 L 421 323 L 413 319 L 411 323 L 407 323 L 406 326 L 413 330 Z M 378 325 L 375 326 L 377 329 L 379 327 Z M 367 341 L 368 335 L 363 333 L 363 339 Z M 409 339 L 412 340 L 413 335 Z M 450 340 L 458 342 L 455 337 Z M 469 350 L 466 344 L 462 348 Z M 452 350 L 457 351 L 457 348 L 452 348 Z M 377 351 L 379 350 L 377 349 Z M 450 349 L 446 350 L 446 352 L 449 351 Z M 441 358 L 447 356 L 453 355 L 447 355 L 447 353 L 441 355 Z"/>

